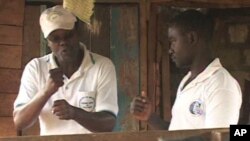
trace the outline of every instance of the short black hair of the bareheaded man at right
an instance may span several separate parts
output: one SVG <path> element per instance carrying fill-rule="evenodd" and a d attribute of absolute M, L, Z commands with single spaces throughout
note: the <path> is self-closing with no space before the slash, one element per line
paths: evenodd
<path fill-rule="evenodd" d="M 189 9 L 172 17 L 168 22 L 169 27 L 177 27 L 183 32 L 195 31 L 205 41 L 212 40 L 214 22 L 211 16 L 198 10 Z"/>

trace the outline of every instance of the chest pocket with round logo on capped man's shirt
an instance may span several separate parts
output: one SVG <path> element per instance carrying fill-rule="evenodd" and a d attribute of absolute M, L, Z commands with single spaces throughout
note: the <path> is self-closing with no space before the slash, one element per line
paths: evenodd
<path fill-rule="evenodd" d="M 95 109 L 95 92 L 80 92 L 79 107 L 87 112 Z"/>

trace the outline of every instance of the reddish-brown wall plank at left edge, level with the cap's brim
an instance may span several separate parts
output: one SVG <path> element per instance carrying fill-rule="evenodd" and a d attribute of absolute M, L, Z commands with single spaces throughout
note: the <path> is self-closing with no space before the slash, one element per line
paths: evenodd
<path fill-rule="evenodd" d="M 23 27 L 0 25 L 0 44 L 23 45 Z"/>

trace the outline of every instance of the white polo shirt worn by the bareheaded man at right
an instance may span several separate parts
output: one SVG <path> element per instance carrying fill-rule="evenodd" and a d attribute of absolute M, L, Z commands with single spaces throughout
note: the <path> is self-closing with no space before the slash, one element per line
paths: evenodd
<path fill-rule="evenodd" d="M 237 124 L 242 102 L 238 82 L 216 58 L 183 89 L 191 76 L 181 81 L 169 130 L 228 128 Z"/>

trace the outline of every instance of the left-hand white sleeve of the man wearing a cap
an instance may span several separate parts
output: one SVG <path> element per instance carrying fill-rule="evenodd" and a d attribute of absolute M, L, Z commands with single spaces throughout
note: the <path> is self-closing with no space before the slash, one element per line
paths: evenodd
<path fill-rule="evenodd" d="M 21 84 L 17 98 L 14 102 L 14 109 L 18 106 L 28 103 L 31 98 L 37 93 L 37 68 L 36 61 L 30 61 L 24 68 Z"/>

